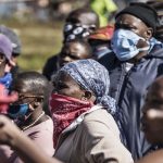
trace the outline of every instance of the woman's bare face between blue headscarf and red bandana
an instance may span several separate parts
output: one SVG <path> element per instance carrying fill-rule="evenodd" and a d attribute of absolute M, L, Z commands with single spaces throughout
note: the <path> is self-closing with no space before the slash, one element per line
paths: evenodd
<path fill-rule="evenodd" d="M 53 82 L 53 92 L 82 100 L 85 90 L 66 73 L 61 72 Z"/>

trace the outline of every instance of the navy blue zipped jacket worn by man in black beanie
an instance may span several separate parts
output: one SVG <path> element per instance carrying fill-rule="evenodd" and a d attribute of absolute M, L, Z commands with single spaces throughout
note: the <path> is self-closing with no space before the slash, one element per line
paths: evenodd
<path fill-rule="evenodd" d="M 163 74 L 163 48 L 155 46 L 126 72 L 126 63 L 116 59 L 114 53 L 104 55 L 100 61 L 111 79 L 110 95 L 115 98 L 122 114 L 121 123 L 126 136 L 126 147 L 134 159 L 138 159 L 152 149 L 140 131 L 141 108 L 149 86 Z"/>

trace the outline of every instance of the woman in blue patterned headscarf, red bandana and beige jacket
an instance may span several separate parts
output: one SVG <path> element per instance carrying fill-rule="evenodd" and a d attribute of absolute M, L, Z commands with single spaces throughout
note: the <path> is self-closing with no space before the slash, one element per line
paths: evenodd
<path fill-rule="evenodd" d="M 54 156 L 66 163 L 131 163 L 112 116 L 116 106 L 104 66 L 91 59 L 67 63 L 53 84 Z"/>

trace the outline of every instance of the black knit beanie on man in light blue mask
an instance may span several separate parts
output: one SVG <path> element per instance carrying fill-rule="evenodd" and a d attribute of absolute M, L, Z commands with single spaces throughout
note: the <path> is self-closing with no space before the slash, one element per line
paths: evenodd
<path fill-rule="evenodd" d="M 125 8 L 120 13 L 116 14 L 117 18 L 122 14 L 130 14 L 140 18 L 147 26 L 152 27 L 155 33 L 158 14 L 156 11 L 146 3 L 133 3 L 131 5 Z"/>

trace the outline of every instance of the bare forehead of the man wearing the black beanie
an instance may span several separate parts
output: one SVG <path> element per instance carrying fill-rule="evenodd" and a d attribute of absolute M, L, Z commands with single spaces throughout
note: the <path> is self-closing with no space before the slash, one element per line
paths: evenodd
<path fill-rule="evenodd" d="M 122 14 L 116 18 L 116 23 L 129 24 L 137 27 L 147 27 L 147 25 L 138 17 L 130 14 Z"/>

